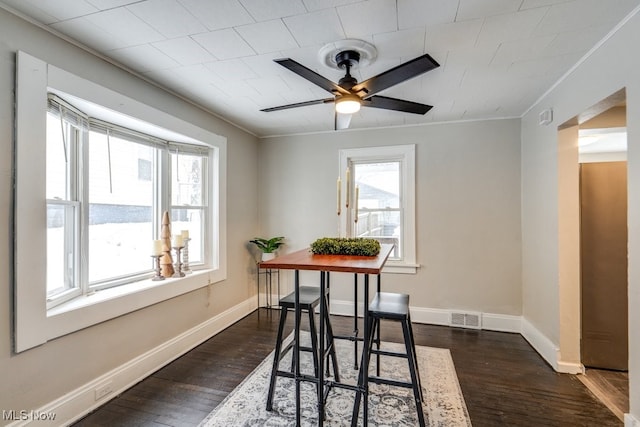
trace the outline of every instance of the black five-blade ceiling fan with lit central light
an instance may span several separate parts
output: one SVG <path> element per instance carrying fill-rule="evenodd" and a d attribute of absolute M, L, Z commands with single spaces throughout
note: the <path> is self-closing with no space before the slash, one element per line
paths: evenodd
<path fill-rule="evenodd" d="M 389 98 L 387 96 L 376 95 L 391 86 L 402 83 L 413 77 L 431 71 L 440 66 L 428 54 L 419 56 L 411 61 L 398 65 L 384 71 L 377 76 L 371 77 L 362 83 L 351 75 L 351 68 L 360 61 L 360 53 L 355 50 L 344 50 L 336 55 L 336 64 L 345 70 L 346 74 L 338 83 L 321 76 L 304 65 L 290 58 L 274 59 L 275 62 L 293 71 L 300 77 L 309 80 L 311 83 L 320 86 L 322 89 L 333 94 L 333 98 L 316 99 L 313 101 L 297 102 L 295 104 L 281 105 L 278 107 L 265 108 L 260 111 L 279 111 L 289 108 L 305 107 L 307 105 L 335 103 L 334 124 L 335 129 L 346 129 L 349 127 L 351 114 L 360 110 L 360 107 L 382 108 L 386 110 L 402 111 L 413 114 L 426 114 L 432 106 L 420 104 L 402 99 Z"/>

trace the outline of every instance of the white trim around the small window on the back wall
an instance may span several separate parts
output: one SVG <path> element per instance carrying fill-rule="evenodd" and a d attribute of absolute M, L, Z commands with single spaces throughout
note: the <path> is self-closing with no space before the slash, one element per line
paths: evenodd
<path fill-rule="evenodd" d="M 382 147 L 363 147 L 342 149 L 339 152 L 340 180 L 346 183 L 346 170 L 352 162 L 373 162 L 396 160 L 402 163 L 402 204 L 405 214 L 404 218 L 404 256 L 402 261 L 389 260 L 383 272 L 385 273 L 405 273 L 415 274 L 420 267 L 416 262 L 416 190 L 415 190 L 415 145 L 391 145 Z M 353 175 L 352 175 L 353 176 Z M 348 237 L 347 233 L 351 229 L 347 221 L 351 215 L 343 211 L 340 215 L 340 236 Z"/>

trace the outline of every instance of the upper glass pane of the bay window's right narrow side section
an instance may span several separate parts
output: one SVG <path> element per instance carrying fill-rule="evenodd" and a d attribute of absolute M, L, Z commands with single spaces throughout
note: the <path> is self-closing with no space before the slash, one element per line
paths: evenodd
<path fill-rule="evenodd" d="M 202 206 L 202 175 L 204 157 L 192 154 L 171 154 L 171 204 Z"/>

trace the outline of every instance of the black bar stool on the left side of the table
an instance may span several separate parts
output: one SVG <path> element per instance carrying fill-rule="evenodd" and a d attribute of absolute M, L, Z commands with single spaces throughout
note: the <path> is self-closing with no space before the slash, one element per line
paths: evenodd
<path fill-rule="evenodd" d="M 311 347 L 300 346 L 300 351 L 310 352 L 313 357 L 313 370 L 315 378 L 318 378 L 318 334 L 315 323 L 315 308 L 320 304 L 320 288 L 316 286 L 300 286 L 299 292 L 299 304 L 300 311 L 306 311 L 309 315 L 309 333 L 311 335 Z M 283 333 L 285 322 L 287 320 L 287 313 L 289 310 L 295 308 L 295 292 L 290 293 L 286 297 L 280 299 L 280 325 L 278 326 L 278 336 L 276 338 L 276 348 L 273 355 L 273 366 L 271 368 L 271 380 L 269 382 L 269 395 L 267 397 L 267 411 L 273 409 L 273 395 L 275 393 L 276 379 L 277 377 L 294 378 L 293 368 L 295 363 L 295 354 L 291 358 L 291 370 L 282 371 L 279 368 L 280 361 L 284 358 L 289 350 L 293 348 L 293 340 L 290 341 L 284 348 L 282 348 Z M 325 310 L 328 313 L 328 305 L 325 303 Z M 331 322 L 327 316 L 325 322 L 327 346 L 327 358 L 331 359 L 333 374 L 336 381 L 340 381 L 338 372 L 338 359 L 336 358 L 336 350 L 333 341 L 333 329 L 331 328 Z M 329 370 L 329 364 L 327 363 L 327 372 Z"/>

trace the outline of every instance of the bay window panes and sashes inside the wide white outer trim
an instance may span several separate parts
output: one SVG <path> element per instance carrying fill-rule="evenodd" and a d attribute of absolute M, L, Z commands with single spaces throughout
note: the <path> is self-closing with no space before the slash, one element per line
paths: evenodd
<path fill-rule="evenodd" d="M 55 94 L 46 145 L 49 307 L 148 277 L 165 210 L 189 234 L 191 268 L 205 266 L 206 147 L 92 119 Z"/>

